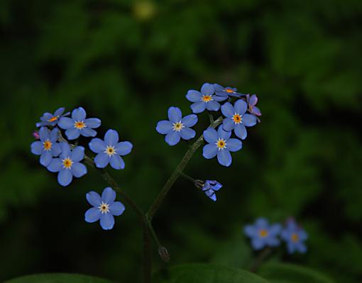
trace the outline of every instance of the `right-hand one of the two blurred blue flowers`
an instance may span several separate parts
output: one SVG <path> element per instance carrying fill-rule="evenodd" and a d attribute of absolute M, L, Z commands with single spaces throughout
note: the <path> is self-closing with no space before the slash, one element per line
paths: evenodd
<path fill-rule="evenodd" d="M 308 238 L 308 234 L 303 228 L 297 226 L 297 223 L 293 219 L 289 219 L 285 228 L 282 231 L 282 238 L 287 244 L 288 253 L 306 253 L 307 246 L 305 240 Z"/>

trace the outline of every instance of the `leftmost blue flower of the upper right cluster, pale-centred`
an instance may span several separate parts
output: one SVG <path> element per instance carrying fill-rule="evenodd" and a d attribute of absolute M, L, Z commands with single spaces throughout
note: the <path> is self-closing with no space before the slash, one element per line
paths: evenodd
<path fill-rule="evenodd" d="M 180 142 L 180 138 L 190 140 L 196 135 L 192 130 L 192 126 L 197 123 L 197 116 L 190 114 L 182 118 L 182 112 L 178 107 L 170 107 L 168 109 L 168 120 L 159 121 L 156 131 L 165 136 L 168 145 L 176 145 Z"/>

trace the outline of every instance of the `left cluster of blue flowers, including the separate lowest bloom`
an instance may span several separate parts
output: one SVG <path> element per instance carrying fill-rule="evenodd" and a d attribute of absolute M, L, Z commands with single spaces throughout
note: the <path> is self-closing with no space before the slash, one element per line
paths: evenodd
<path fill-rule="evenodd" d="M 33 133 L 35 142 L 31 144 L 31 152 L 40 155 L 40 164 L 50 172 L 57 172 L 57 182 L 63 187 L 68 186 L 73 177 L 82 177 L 87 174 L 84 161 L 83 146 L 77 145 L 78 138 L 82 135 L 92 138 L 88 143 L 89 149 L 96 154 L 94 165 L 105 168 L 110 165 L 116 170 L 124 169 L 125 163 L 122 158 L 131 152 L 133 145 L 128 142 L 119 142 L 119 134 L 109 129 L 104 135 L 104 140 L 94 138 L 101 126 L 99 118 L 87 118 L 87 113 L 82 107 L 64 113 L 62 107 L 54 113 L 44 113 L 40 122 L 35 126 L 40 128 Z M 67 117 L 70 116 L 70 117 Z M 67 139 L 62 135 L 64 131 Z M 74 141 L 74 143 L 71 143 Z M 124 205 L 116 199 L 116 192 L 111 188 L 104 189 L 102 197 L 96 192 L 87 194 L 87 201 L 94 208 L 85 214 L 85 221 L 92 223 L 100 220 L 102 228 L 109 230 L 114 226 L 114 216 L 121 215 Z"/>

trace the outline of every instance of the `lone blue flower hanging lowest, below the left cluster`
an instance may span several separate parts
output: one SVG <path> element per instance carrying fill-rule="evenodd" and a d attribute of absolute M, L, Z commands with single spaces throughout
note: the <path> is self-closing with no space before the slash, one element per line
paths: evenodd
<path fill-rule="evenodd" d="M 111 188 L 104 189 L 102 196 L 96 192 L 89 192 L 87 201 L 92 209 L 88 209 L 84 214 L 84 220 L 88 223 L 99 221 L 104 230 L 111 230 L 114 226 L 114 216 L 124 213 L 124 205 L 116 200 L 116 192 Z"/>

